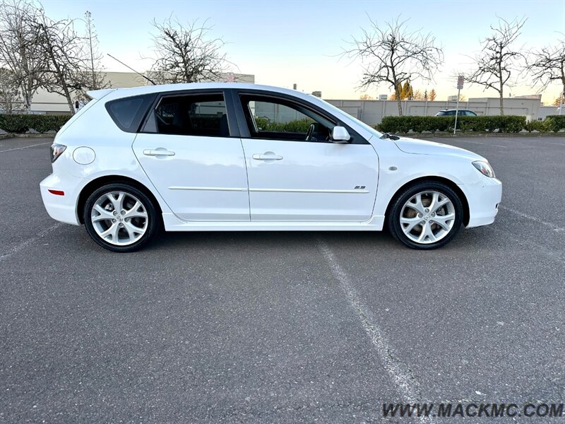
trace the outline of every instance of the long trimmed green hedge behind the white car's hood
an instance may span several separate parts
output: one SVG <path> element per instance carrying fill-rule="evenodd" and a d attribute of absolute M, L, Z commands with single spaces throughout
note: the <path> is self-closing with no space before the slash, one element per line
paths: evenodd
<path fill-rule="evenodd" d="M 383 117 L 376 128 L 388 133 L 436 132 L 453 131 L 455 117 Z M 505 133 L 517 133 L 525 129 L 525 117 L 518 116 L 487 116 L 487 117 L 458 117 L 457 129 L 460 131 L 492 132 L 498 130 Z"/>

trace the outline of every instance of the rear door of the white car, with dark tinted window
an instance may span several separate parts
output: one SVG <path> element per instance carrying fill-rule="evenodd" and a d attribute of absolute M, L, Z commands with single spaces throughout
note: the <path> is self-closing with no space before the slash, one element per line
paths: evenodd
<path fill-rule="evenodd" d="M 133 142 L 141 167 L 183 220 L 249 221 L 245 158 L 226 95 L 162 95 Z"/>

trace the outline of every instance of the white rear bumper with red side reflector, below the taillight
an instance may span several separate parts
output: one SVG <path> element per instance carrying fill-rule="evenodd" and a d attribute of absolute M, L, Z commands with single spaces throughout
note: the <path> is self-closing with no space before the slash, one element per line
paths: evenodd
<path fill-rule="evenodd" d="M 57 175 L 49 175 L 40 182 L 41 198 L 43 205 L 51 218 L 61 221 L 62 223 L 81 225 L 76 215 L 76 200 L 78 199 L 76 181 L 73 184 L 65 182 Z M 57 192 L 63 192 L 64 195 L 53 194 L 49 189 Z"/>

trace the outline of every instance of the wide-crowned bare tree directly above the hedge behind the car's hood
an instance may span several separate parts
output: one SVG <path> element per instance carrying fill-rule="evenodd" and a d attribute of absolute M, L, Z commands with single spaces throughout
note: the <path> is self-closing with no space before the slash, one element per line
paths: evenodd
<path fill-rule="evenodd" d="M 362 30 L 362 37 L 352 37 L 343 55 L 361 59 L 361 88 L 381 83 L 393 88 L 398 114 L 402 115 L 402 84 L 417 79 L 431 81 L 444 61 L 443 48 L 436 45 L 431 33 L 410 32 L 406 21 L 400 21 L 400 18 L 383 26 L 374 20 L 370 22 L 371 28 Z"/>

